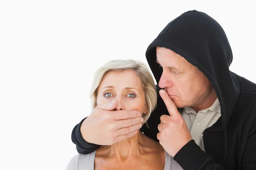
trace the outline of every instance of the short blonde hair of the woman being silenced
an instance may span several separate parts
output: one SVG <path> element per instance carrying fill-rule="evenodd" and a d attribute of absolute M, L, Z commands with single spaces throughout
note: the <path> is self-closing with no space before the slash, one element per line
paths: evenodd
<path fill-rule="evenodd" d="M 102 65 L 94 74 L 93 83 L 90 90 L 90 99 L 92 109 L 96 108 L 97 106 L 97 95 L 98 95 L 98 88 L 104 76 L 110 71 L 125 71 L 125 70 L 132 70 L 134 71 L 137 76 L 140 78 L 143 91 L 145 93 L 145 102 L 147 105 L 148 113 L 143 114 L 144 121 L 142 124 L 147 122 L 151 112 L 157 105 L 157 92 L 154 85 L 154 79 L 151 76 L 147 66 L 140 61 L 135 61 L 132 59 L 121 60 L 115 59 L 111 60 L 104 65 Z"/>

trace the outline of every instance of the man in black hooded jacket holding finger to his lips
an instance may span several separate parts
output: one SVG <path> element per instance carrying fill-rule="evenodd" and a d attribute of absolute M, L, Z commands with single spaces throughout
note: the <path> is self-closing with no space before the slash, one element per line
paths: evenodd
<path fill-rule="evenodd" d="M 146 58 L 159 96 L 144 134 L 158 139 L 184 170 L 256 169 L 256 84 L 229 70 L 233 55 L 221 26 L 187 11 L 160 32 Z M 79 153 L 140 128 L 140 113 L 114 111 L 116 105 L 98 106 L 74 127 Z"/>

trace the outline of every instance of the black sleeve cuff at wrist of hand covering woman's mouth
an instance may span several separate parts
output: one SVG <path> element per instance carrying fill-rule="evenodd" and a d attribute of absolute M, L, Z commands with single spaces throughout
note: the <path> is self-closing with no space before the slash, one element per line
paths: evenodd
<path fill-rule="evenodd" d="M 78 153 L 88 154 L 96 150 L 99 147 L 99 145 L 88 143 L 83 139 L 81 135 L 80 127 L 84 119 L 82 119 L 81 122 L 73 128 L 72 134 L 71 134 L 71 140 L 74 144 L 76 144 L 76 150 Z"/>

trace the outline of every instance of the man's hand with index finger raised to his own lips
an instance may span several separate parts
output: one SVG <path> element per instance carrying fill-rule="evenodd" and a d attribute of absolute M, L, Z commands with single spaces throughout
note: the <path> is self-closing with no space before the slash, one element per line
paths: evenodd
<path fill-rule="evenodd" d="M 176 153 L 190 140 L 192 137 L 189 133 L 185 120 L 180 115 L 174 102 L 168 96 L 166 91 L 160 90 L 162 97 L 170 116 L 163 115 L 160 117 L 161 123 L 158 125 L 157 139 L 169 155 L 174 157 Z"/>

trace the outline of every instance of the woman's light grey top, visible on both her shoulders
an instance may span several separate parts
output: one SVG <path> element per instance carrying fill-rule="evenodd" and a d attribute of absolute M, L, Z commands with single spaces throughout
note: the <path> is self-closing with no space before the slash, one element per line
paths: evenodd
<path fill-rule="evenodd" d="M 165 152 L 164 170 L 183 170 L 180 165 Z M 77 154 L 67 165 L 66 170 L 94 170 L 94 159 L 96 150 L 89 154 Z"/>

